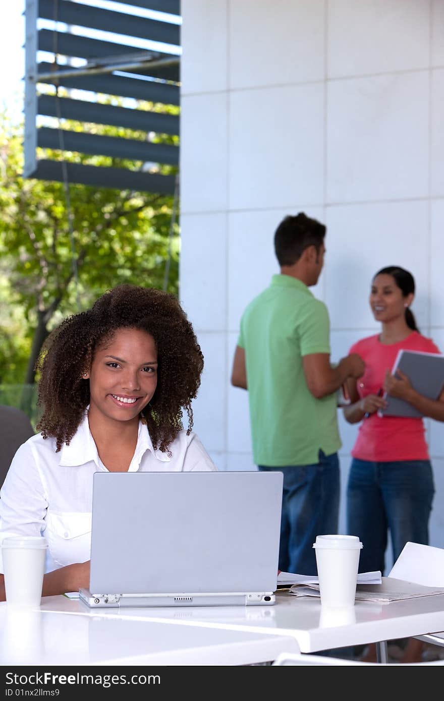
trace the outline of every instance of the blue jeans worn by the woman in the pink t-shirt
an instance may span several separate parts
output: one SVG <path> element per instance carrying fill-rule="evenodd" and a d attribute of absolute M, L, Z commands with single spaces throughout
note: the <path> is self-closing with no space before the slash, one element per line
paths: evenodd
<path fill-rule="evenodd" d="M 362 540 L 360 572 L 380 570 L 384 574 L 388 529 L 393 562 L 408 540 L 429 545 L 434 493 L 429 460 L 373 463 L 353 458 L 347 486 L 347 533 Z"/>

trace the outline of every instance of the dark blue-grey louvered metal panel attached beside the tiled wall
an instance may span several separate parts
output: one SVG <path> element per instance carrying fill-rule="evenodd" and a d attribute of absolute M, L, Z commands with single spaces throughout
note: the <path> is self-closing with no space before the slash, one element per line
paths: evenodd
<path fill-rule="evenodd" d="M 56 151 L 111 156 L 133 161 L 131 168 L 105 168 L 82 163 L 67 163 L 65 172 L 70 182 L 94 186 L 173 193 L 175 176 L 153 175 L 144 168 L 135 170 L 137 163 L 178 164 L 178 147 L 153 143 L 151 139 L 135 139 L 100 135 L 91 124 L 113 125 L 130 130 L 178 135 L 179 117 L 167 111 L 157 111 L 159 104 L 175 105 L 180 100 L 180 26 L 174 22 L 154 20 L 128 13 L 123 6 L 180 14 L 179 0 L 119 0 L 121 11 L 97 8 L 72 0 L 26 0 L 26 88 L 25 88 L 25 177 L 62 181 L 62 161 L 36 159 L 37 147 Z M 39 18 L 53 20 L 53 29 L 37 31 Z M 62 23 L 76 27 L 76 33 L 64 30 Z M 90 30 L 112 32 L 110 41 Z M 86 36 L 88 34 L 88 36 Z M 120 44 L 117 34 L 126 35 Z M 133 37 L 133 41 L 131 38 Z M 162 52 L 143 50 L 140 39 L 170 44 Z M 139 44 L 139 46 L 135 46 Z M 149 46 L 149 44 L 147 44 Z M 37 64 L 37 52 L 53 53 L 55 62 Z M 60 64 L 60 56 L 67 61 Z M 73 62 L 73 59 L 76 62 Z M 86 62 L 79 65 L 79 60 Z M 57 62 L 56 62 L 57 61 Z M 39 85 L 53 85 L 53 95 L 38 95 Z M 41 88 L 47 92 L 48 88 Z M 66 90 L 69 96 L 65 97 Z M 72 90 L 121 97 L 123 106 L 83 100 Z M 74 99 L 75 98 L 75 99 Z M 134 100 L 156 103 L 156 111 L 133 107 Z M 54 128 L 36 128 L 36 117 L 55 118 Z M 65 120 L 59 123 L 59 120 Z M 69 130 L 66 120 L 83 123 L 82 131 Z M 67 128 L 68 126 L 68 128 Z M 160 139 L 161 140 L 161 139 Z"/>

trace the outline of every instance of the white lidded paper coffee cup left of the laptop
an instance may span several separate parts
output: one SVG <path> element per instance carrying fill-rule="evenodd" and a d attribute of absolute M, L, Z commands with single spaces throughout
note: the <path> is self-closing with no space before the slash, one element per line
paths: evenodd
<path fill-rule="evenodd" d="M 12 536 L 1 544 L 6 603 L 40 606 L 48 544 L 41 536 Z"/>

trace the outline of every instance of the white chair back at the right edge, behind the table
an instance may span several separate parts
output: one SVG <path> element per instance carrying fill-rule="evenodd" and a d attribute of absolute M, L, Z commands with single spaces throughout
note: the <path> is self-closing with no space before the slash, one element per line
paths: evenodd
<path fill-rule="evenodd" d="M 405 543 L 388 576 L 425 587 L 444 587 L 444 550 L 431 545 Z"/>

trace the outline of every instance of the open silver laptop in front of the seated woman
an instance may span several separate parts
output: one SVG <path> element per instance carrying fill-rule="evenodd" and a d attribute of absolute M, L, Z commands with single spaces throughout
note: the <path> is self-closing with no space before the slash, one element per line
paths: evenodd
<path fill-rule="evenodd" d="M 274 604 L 282 472 L 95 472 L 88 606 Z"/>

